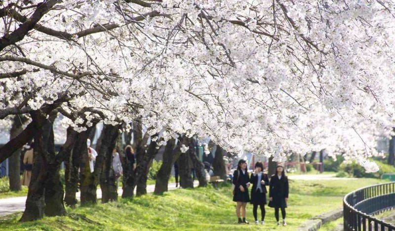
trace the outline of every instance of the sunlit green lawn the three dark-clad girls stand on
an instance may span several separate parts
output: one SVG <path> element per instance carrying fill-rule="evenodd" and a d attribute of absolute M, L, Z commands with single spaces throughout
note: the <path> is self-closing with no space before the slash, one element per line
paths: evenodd
<path fill-rule="evenodd" d="M 274 209 L 266 207 L 265 230 L 296 230 L 306 220 L 341 207 L 346 193 L 380 182 L 383 181 L 350 178 L 290 181 L 288 226 L 277 227 Z M 4 230 L 256 230 L 255 224 L 236 224 L 235 205 L 229 185 L 219 189 L 181 189 L 164 195 L 147 194 L 133 200 L 67 208 L 65 217 L 35 222 L 18 223 L 21 213 L 16 213 L 1 218 L 0 227 Z M 246 217 L 253 223 L 251 205 L 247 205 Z"/>

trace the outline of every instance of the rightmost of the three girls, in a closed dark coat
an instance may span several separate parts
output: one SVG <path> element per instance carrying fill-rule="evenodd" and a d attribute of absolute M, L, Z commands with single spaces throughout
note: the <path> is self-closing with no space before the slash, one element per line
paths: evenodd
<path fill-rule="evenodd" d="M 284 167 L 281 164 L 277 165 L 276 170 L 276 174 L 270 178 L 269 207 L 275 208 L 277 226 L 280 225 L 278 222 L 278 209 L 281 209 L 282 225 L 286 226 L 287 223 L 285 222 L 285 208 L 287 207 L 288 201 L 288 178 L 285 176 Z"/>

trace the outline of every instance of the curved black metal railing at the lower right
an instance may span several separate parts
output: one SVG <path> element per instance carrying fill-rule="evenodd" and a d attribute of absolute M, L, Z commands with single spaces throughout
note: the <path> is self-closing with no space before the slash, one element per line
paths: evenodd
<path fill-rule="evenodd" d="M 344 230 L 395 231 L 395 226 L 371 215 L 395 208 L 395 182 L 348 193 L 343 200 Z"/>

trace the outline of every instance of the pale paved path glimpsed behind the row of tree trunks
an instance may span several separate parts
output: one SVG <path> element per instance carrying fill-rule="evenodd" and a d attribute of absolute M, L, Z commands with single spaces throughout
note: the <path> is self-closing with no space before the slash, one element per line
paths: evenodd
<path fill-rule="evenodd" d="M 194 185 L 195 187 L 197 187 L 199 185 L 199 182 L 195 181 Z M 176 188 L 176 184 L 169 183 L 168 190 L 175 190 L 175 189 L 178 189 Z M 147 192 L 154 192 L 154 190 L 155 190 L 155 185 L 147 185 Z M 96 193 L 97 193 L 97 198 L 102 197 L 102 191 L 100 189 L 98 189 Z M 134 190 L 134 193 L 136 193 L 136 189 Z M 118 188 L 118 195 L 122 195 L 122 188 Z M 80 193 L 77 192 L 76 196 L 77 199 L 79 199 Z M 25 203 L 26 203 L 26 196 L 0 199 L 0 216 L 24 211 Z"/>

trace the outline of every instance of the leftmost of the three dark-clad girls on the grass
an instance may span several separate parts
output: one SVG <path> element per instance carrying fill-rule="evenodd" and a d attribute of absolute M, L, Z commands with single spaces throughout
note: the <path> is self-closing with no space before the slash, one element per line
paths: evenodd
<path fill-rule="evenodd" d="M 233 201 L 237 202 L 236 214 L 238 223 L 248 224 L 245 220 L 245 206 L 247 205 L 247 202 L 250 201 L 250 197 L 248 195 L 248 187 L 250 186 L 249 181 L 247 163 L 245 160 L 240 159 L 237 164 L 237 170 L 233 173 L 233 185 L 235 186 Z M 240 218 L 240 210 L 243 220 Z"/>

